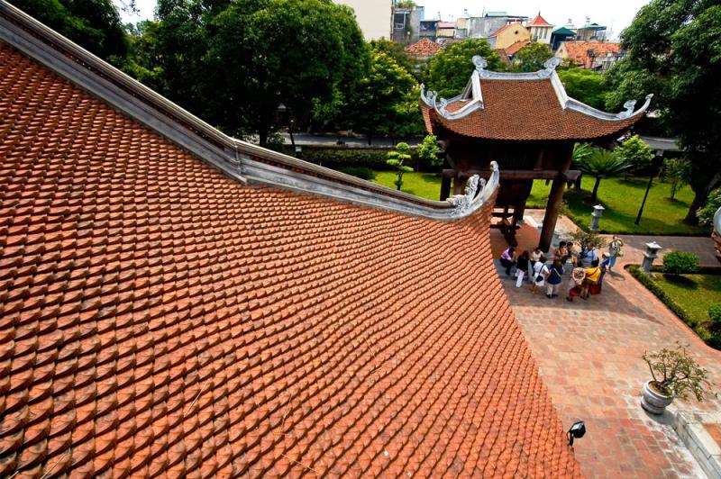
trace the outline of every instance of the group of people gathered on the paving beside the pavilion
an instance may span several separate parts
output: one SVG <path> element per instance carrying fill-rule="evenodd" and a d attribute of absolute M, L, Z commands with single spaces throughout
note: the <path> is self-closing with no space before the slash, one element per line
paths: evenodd
<path fill-rule="evenodd" d="M 614 236 L 611 239 L 607 252 L 598 257 L 595 245 L 576 251 L 572 242 L 561 241 L 558 248 L 553 250 L 551 265 L 539 248 L 533 251 L 523 251 L 516 257 L 516 249 L 508 248 L 501 254 L 501 265 L 506 268 L 506 274 L 512 276 L 516 269 L 516 287 L 520 288 L 527 276 L 534 294 L 545 286 L 546 297 L 555 298 L 559 294 L 563 283 L 565 267 L 570 263 L 570 283 L 566 300 L 572 302 L 579 296 L 588 299 L 590 294 L 600 294 L 603 277 L 616 267 L 616 259 L 623 256 L 623 239 Z"/>

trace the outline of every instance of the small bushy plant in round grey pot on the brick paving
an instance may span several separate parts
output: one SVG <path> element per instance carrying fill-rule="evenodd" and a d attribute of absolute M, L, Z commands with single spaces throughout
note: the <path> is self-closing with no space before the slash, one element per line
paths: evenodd
<path fill-rule="evenodd" d="M 643 384 L 641 406 L 652 414 L 663 414 L 673 398 L 687 399 L 693 394 L 703 401 L 708 381 L 708 371 L 693 357 L 685 346 L 676 343 L 676 348 L 663 348 L 653 354 L 643 353 L 653 379 Z"/>

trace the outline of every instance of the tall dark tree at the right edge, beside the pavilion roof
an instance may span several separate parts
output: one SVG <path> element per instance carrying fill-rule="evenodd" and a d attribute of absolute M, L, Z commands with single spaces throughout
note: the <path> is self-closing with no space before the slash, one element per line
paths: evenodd
<path fill-rule="evenodd" d="M 623 32 L 625 59 L 608 73 L 609 108 L 656 94 L 654 110 L 669 134 L 679 136 L 691 163 L 694 199 L 686 221 L 697 221 L 721 178 L 721 5 L 716 0 L 653 0 Z"/>

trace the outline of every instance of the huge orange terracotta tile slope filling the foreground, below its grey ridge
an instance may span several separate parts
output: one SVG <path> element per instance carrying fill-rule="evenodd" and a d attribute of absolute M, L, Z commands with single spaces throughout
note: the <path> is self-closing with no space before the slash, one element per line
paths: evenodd
<path fill-rule="evenodd" d="M 2 44 L 0 73 L 0 476 L 580 475 L 492 203 L 242 185 Z"/>

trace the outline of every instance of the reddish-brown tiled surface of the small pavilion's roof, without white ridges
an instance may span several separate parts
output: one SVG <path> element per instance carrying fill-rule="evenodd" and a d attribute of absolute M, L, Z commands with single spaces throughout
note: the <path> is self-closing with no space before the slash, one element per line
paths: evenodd
<path fill-rule="evenodd" d="M 458 134 L 493 140 L 592 140 L 623 131 L 639 116 L 622 121 L 601 120 L 561 108 L 548 78 L 535 80 L 481 79 L 483 109 L 458 120 L 447 120 L 421 102 L 428 131 L 437 126 Z M 448 105 L 448 111 L 464 103 Z"/>

